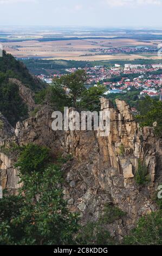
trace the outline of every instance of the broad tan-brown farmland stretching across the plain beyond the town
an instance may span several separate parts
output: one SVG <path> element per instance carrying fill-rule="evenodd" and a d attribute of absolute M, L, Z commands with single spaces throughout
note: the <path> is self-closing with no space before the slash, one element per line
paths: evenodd
<path fill-rule="evenodd" d="M 50 58 L 65 60 L 111 60 L 111 59 L 158 59 L 157 54 L 102 54 L 95 49 L 109 47 L 156 47 L 160 40 L 139 41 L 134 39 L 79 39 L 58 41 L 3 42 L 3 48 L 17 58 Z"/>

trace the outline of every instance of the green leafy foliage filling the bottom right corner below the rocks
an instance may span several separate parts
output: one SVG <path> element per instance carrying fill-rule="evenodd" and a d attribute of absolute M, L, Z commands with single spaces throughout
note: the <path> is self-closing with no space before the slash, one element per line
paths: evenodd
<path fill-rule="evenodd" d="M 141 217 L 137 227 L 124 238 L 125 245 L 162 245 L 162 210 Z"/>

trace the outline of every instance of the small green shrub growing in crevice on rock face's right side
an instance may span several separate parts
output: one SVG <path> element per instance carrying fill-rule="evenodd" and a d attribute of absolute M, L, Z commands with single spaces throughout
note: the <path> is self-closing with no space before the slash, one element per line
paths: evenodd
<path fill-rule="evenodd" d="M 135 174 L 135 182 L 138 185 L 145 185 L 148 182 L 148 170 L 146 167 L 146 164 L 142 163 L 141 160 L 139 159 L 138 161 L 138 170 L 137 173 Z"/>

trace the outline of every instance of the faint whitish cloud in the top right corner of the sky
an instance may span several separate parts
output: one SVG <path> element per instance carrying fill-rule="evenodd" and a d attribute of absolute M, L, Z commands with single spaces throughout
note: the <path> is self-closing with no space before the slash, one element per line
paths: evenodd
<path fill-rule="evenodd" d="M 161 5 L 162 0 L 106 0 L 106 3 L 111 7 Z"/>

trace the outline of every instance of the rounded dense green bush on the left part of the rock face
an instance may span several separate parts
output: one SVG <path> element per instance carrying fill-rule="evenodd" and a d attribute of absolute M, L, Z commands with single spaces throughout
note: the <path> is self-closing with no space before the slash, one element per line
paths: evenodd
<path fill-rule="evenodd" d="M 49 149 L 35 144 L 28 144 L 22 148 L 15 167 L 20 168 L 21 174 L 42 173 L 49 162 Z"/>

